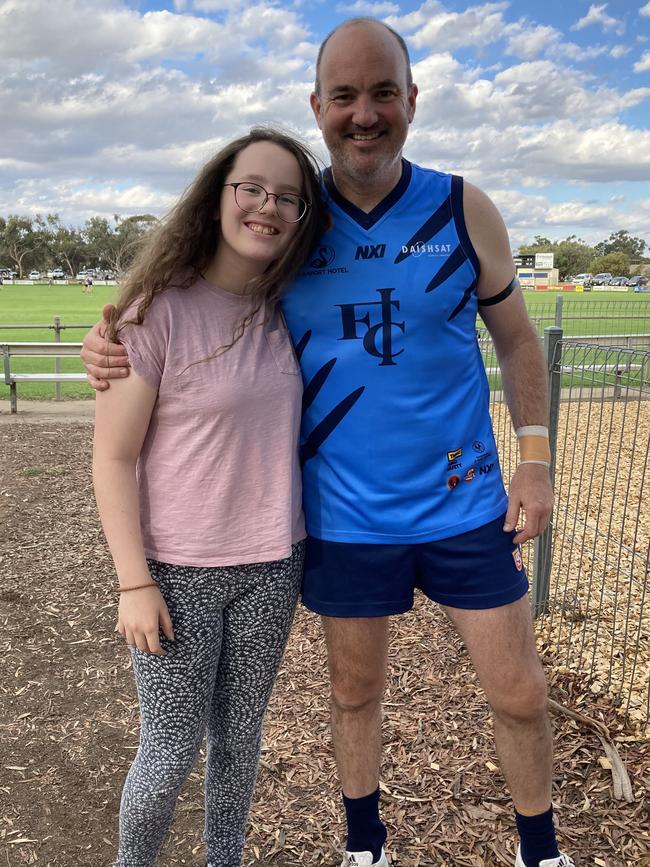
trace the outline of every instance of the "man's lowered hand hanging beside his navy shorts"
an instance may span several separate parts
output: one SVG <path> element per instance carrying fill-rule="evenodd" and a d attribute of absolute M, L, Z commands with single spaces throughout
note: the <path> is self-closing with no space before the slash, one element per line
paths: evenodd
<path fill-rule="evenodd" d="M 553 488 L 547 467 L 542 464 L 519 464 L 510 480 L 508 511 L 503 529 L 511 532 L 517 526 L 519 513 L 525 514 L 523 528 L 513 541 L 520 545 L 542 533 L 553 509 Z"/>

